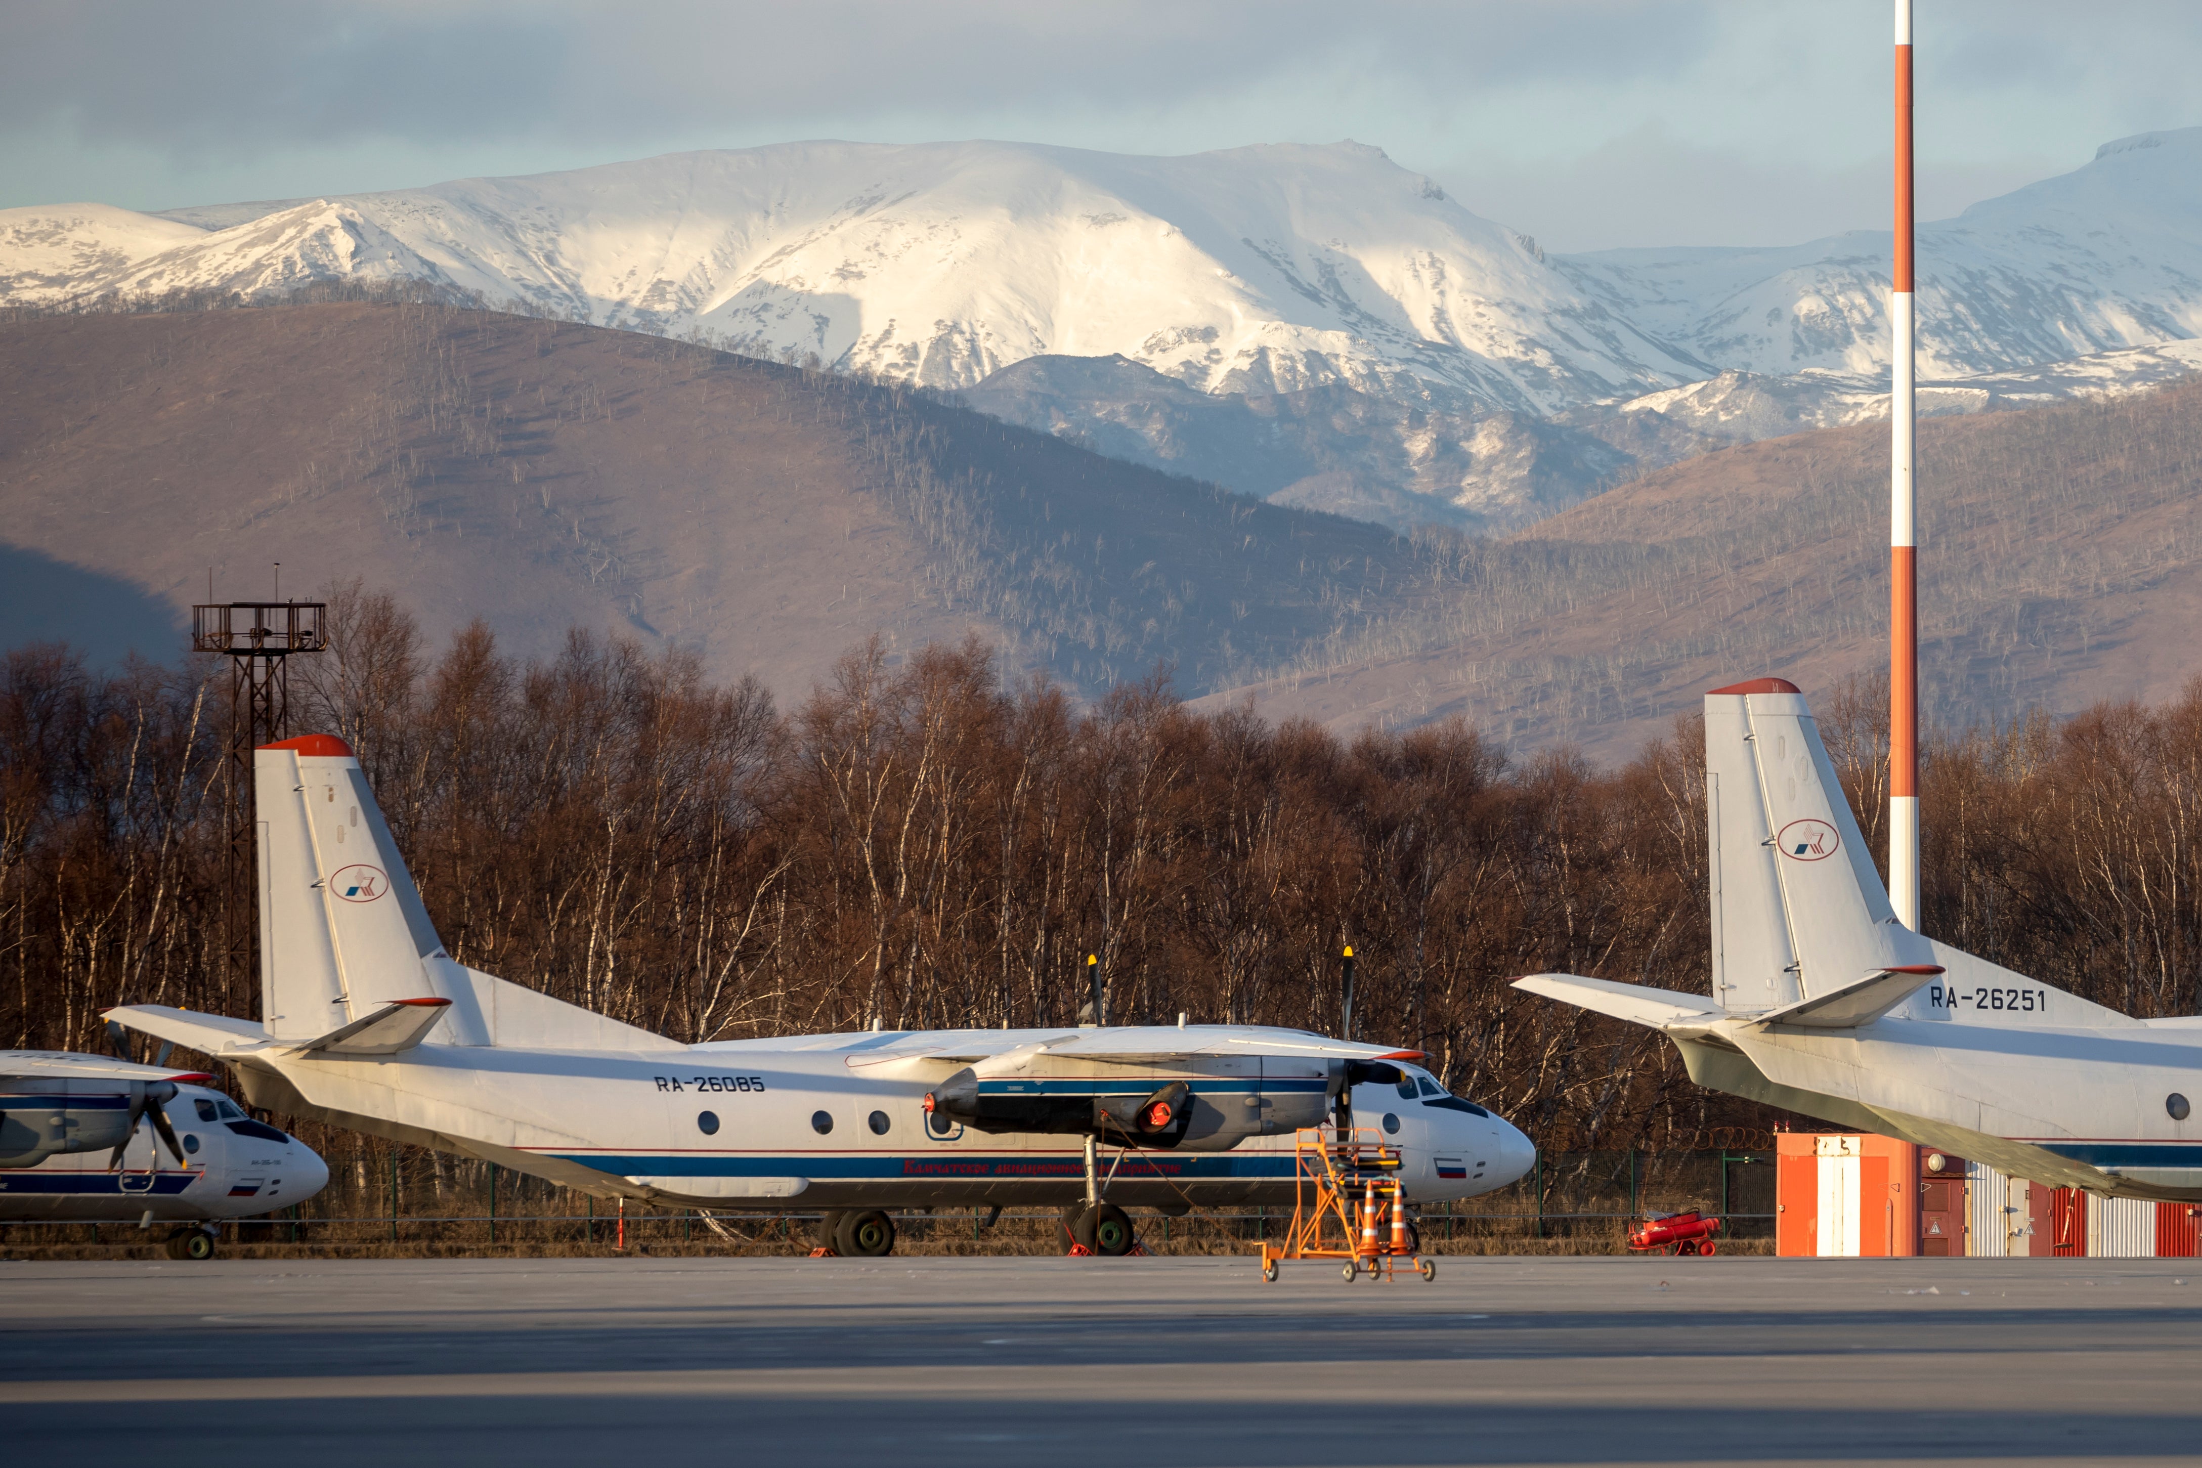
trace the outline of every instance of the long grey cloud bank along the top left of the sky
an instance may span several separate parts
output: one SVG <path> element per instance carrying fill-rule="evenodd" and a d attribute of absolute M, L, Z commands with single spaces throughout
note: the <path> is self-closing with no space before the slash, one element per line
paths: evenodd
<path fill-rule="evenodd" d="M 0 125 L 88 141 L 269 147 L 277 139 L 568 139 L 749 130 L 788 119 L 1004 108 L 1176 108 L 1332 70 L 1431 92 L 1596 77 L 1680 59 L 1702 18 L 1658 7 L 35 4 L 0 51 Z"/>

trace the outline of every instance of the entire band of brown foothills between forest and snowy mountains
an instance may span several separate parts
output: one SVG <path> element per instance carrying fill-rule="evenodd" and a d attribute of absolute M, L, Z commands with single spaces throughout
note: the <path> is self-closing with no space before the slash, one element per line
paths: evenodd
<path fill-rule="evenodd" d="M 1929 713 L 2176 693 L 2198 480 L 2202 385 L 1922 425 Z M 978 632 L 1088 693 L 1169 662 L 1275 717 L 1464 713 L 1601 755 L 1718 682 L 1872 671 L 1887 625 L 1878 427 L 1403 541 L 923 394 L 429 304 L 0 319 L 0 643 L 108 616 L 172 645 L 209 566 L 231 596 L 282 561 L 432 638 L 630 632 L 784 698 L 874 632 Z"/>

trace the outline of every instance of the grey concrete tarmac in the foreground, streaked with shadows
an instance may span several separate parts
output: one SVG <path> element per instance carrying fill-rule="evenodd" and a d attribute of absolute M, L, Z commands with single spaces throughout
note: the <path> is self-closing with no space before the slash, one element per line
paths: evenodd
<path fill-rule="evenodd" d="M 2198 1380 L 2180 1259 L 0 1263 L 18 1464 L 2191 1464 Z"/>

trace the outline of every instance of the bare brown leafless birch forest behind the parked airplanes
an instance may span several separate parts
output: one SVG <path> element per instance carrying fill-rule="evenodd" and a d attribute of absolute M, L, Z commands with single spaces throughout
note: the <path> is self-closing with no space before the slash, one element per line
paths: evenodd
<path fill-rule="evenodd" d="M 1458 722 L 1339 740 L 1196 713 L 1165 680 L 1092 704 L 978 645 L 857 647 L 799 709 L 694 658 L 487 632 L 423 647 L 341 590 L 293 731 L 352 742 L 451 953 L 680 1041 L 1070 1023 L 1337 1030 L 1431 1054 L 1546 1147 L 1687 1147 L 1764 1125 L 1638 1032 L 1528 999 L 1566 968 L 1704 984 L 1689 724 L 1623 768 L 1508 759 Z M 216 676 L 218 673 L 218 676 Z M 0 684 L 7 1043 L 99 1048 L 123 1001 L 255 1015 L 220 960 L 227 669 L 97 673 L 57 647 Z M 1878 825 L 1881 700 L 1821 700 Z M 1942 735 L 1927 927 L 2138 1015 L 2193 1012 L 2202 682 L 2171 706 Z"/>

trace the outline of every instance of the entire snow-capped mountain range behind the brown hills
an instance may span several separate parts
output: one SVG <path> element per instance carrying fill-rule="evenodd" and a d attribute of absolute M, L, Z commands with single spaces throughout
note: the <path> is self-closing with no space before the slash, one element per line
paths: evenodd
<path fill-rule="evenodd" d="M 1885 231 L 1546 255 L 1359 143 L 788 143 L 159 216 L 0 211 L 0 302 L 324 280 L 964 390 L 1121 458 L 1403 528 L 1504 530 L 1709 445 L 1887 414 Z M 2202 128 L 1920 227 L 1925 412 L 2156 385 L 2202 370 L 2198 337 Z"/>

